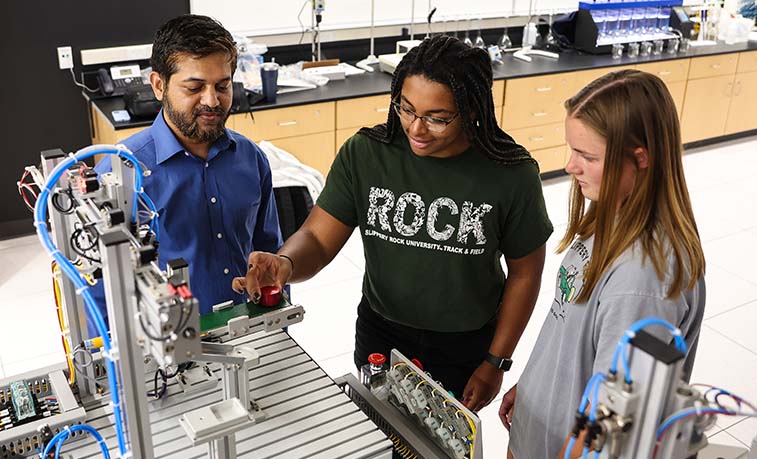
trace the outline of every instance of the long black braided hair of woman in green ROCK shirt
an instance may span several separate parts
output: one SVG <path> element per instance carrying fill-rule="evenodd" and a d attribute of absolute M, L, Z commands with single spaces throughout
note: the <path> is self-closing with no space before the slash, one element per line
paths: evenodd
<path fill-rule="evenodd" d="M 463 131 L 489 159 L 504 165 L 535 162 L 528 151 L 497 124 L 492 99 L 491 60 L 486 51 L 446 35 L 423 40 L 407 53 L 394 71 L 393 101 L 399 99 L 405 78 L 413 75 L 450 88 L 460 112 Z M 397 113 L 389 110 L 386 123 L 362 128 L 360 133 L 378 142 L 390 143 L 398 126 Z"/>

